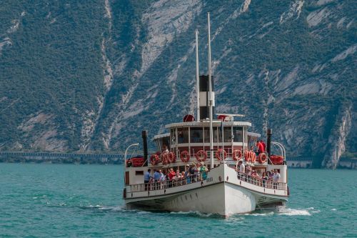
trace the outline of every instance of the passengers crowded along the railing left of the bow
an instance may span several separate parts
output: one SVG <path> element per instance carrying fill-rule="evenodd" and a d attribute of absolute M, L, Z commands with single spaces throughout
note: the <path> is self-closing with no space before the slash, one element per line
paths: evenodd
<path fill-rule="evenodd" d="M 144 174 L 145 190 L 147 189 L 163 189 L 167 187 L 176 187 L 183 184 L 191 184 L 207 178 L 208 169 L 203 162 L 193 162 L 191 165 L 185 165 L 185 171 L 180 172 L 179 169 L 174 171 L 174 168 L 169 169 L 154 169 L 151 174 L 151 169 L 148 169 Z"/>

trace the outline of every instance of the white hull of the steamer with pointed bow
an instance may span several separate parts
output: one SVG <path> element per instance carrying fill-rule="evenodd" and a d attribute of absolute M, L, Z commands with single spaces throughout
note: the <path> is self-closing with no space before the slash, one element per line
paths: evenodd
<path fill-rule="evenodd" d="M 197 211 L 228 217 L 252 212 L 256 207 L 287 201 L 286 191 L 266 189 L 238 179 L 226 164 L 212 169 L 206 180 L 179 187 L 145 192 L 126 192 L 129 208 L 173 212 Z"/>

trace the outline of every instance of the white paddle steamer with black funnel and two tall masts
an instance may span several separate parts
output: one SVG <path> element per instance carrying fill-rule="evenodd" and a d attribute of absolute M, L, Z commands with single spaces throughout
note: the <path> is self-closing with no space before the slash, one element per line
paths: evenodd
<path fill-rule="evenodd" d="M 214 114 L 210 41 L 208 13 L 207 76 L 198 76 L 196 31 L 196 118 L 186 115 L 183 122 L 167 124 L 167 133 L 154 136 L 157 152 L 153 154 L 147 149 L 148 133 L 142 132 L 144 157 L 125 158 L 124 163 L 123 197 L 129 208 L 198 211 L 228 217 L 261 207 L 281 206 L 288 200 L 285 149 L 280 143 L 271 142 L 272 130 L 267 130 L 266 153 L 256 154 L 251 148 L 261 135 L 249 132 L 251 122 L 235 120 L 243 117 L 240 114 Z M 278 153 L 273 154 L 274 149 Z M 239 161 L 259 175 L 276 169 L 280 179 L 273 182 L 254 177 L 251 172 L 239 172 Z M 174 168 L 182 172 L 193 162 L 207 164 L 208 171 L 182 179 L 144 183 L 148 169 L 151 175 L 154 169 Z"/>

